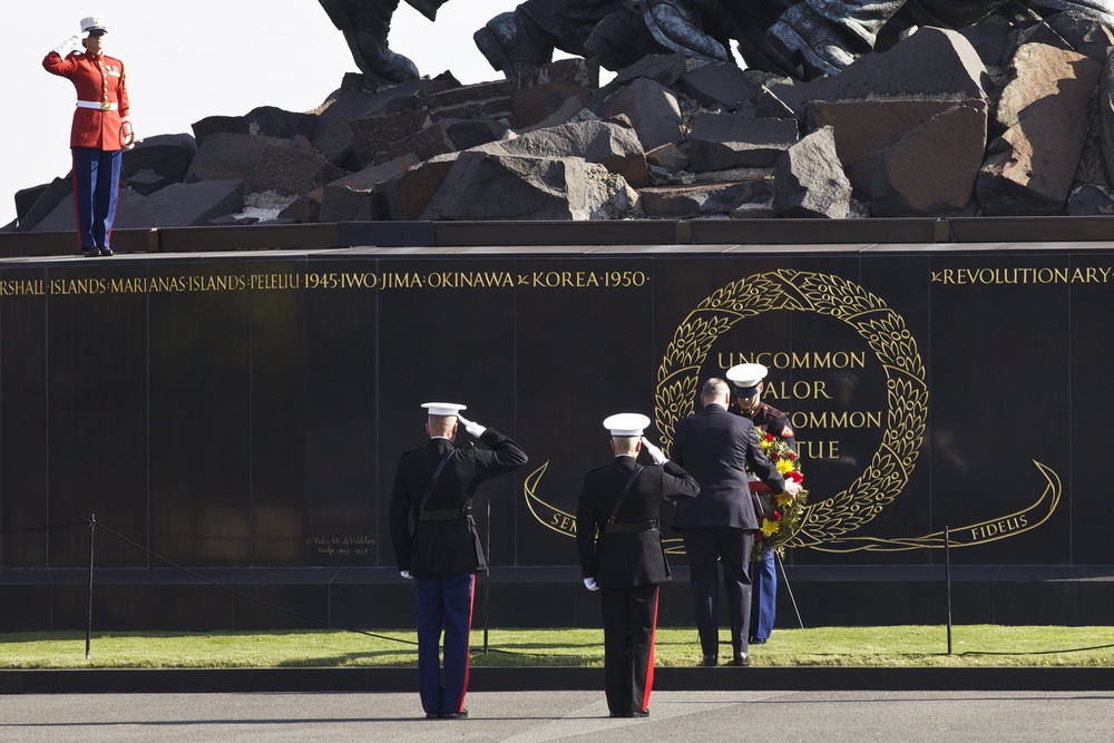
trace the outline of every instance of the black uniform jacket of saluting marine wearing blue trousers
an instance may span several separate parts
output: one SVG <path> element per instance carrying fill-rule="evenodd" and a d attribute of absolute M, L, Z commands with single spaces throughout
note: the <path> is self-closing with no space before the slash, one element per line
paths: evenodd
<path fill-rule="evenodd" d="M 490 447 L 457 447 L 441 470 L 426 504 L 427 511 L 470 510 L 477 488 L 499 475 L 526 463 L 526 452 L 495 429 L 480 441 Z M 391 492 L 391 541 L 399 570 L 416 576 L 475 573 L 487 568 L 470 516 L 439 521 L 418 521 L 422 496 L 438 462 L 451 442 L 430 439 L 424 448 L 402 454 Z M 411 527 L 412 525 L 412 527 Z"/>

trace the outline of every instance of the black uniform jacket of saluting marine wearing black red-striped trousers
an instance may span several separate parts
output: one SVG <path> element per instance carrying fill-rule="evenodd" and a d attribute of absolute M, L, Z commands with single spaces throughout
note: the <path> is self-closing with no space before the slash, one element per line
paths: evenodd
<path fill-rule="evenodd" d="M 607 534 L 596 541 L 596 529 L 607 522 L 623 486 L 634 471 L 633 457 L 616 457 L 606 467 L 589 470 L 576 507 L 576 546 L 584 577 L 600 588 L 629 588 L 670 579 L 670 565 L 658 529 Z M 666 498 L 692 498 L 700 492 L 693 476 L 673 462 L 646 467 L 631 486 L 615 517 L 616 524 L 657 519 Z"/>

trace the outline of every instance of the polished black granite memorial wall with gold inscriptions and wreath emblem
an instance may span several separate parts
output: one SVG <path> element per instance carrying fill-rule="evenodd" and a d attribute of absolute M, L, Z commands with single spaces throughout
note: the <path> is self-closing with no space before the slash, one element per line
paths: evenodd
<path fill-rule="evenodd" d="M 940 565 L 945 528 L 957 565 L 1114 565 L 1112 290 L 1106 250 L 7 264 L 0 573 L 85 566 L 91 515 L 102 568 L 393 568 L 431 400 L 530 457 L 477 500 L 492 566 L 575 567 L 600 421 L 644 412 L 668 451 L 747 361 L 801 444 L 786 565 Z"/>

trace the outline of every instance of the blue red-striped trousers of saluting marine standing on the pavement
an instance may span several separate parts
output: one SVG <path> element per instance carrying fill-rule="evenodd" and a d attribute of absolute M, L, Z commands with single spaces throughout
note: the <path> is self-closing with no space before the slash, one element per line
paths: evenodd
<path fill-rule="evenodd" d="M 476 576 L 414 577 L 418 594 L 418 693 L 428 713 L 460 712 L 468 693 L 469 636 Z M 444 680 L 438 652 L 444 633 Z"/>

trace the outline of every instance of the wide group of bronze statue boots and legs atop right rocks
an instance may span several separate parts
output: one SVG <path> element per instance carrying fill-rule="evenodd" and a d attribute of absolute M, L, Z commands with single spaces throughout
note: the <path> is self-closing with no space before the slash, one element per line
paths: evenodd
<path fill-rule="evenodd" d="M 647 53 L 727 61 L 735 41 L 747 67 L 811 79 L 888 48 L 915 26 L 962 29 L 1014 7 L 1095 16 L 1114 28 L 1114 0 L 526 0 L 475 35 L 515 80 L 554 49 L 617 70 Z"/>

